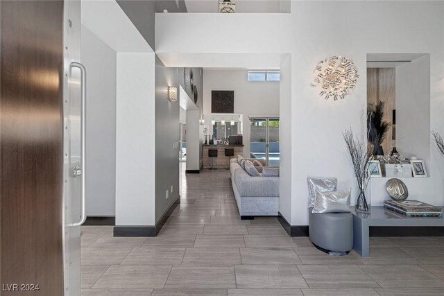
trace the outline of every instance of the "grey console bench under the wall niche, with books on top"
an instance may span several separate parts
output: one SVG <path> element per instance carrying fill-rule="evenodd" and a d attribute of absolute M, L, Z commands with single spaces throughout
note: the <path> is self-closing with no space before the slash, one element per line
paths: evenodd
<path fill-rule="evenodd" d="M 410 217 L 384 209 L 370 207 L 370 213 L 362 213 L 350 207 L 353 214 L 353 249 L 363 257 L 370 254 L 370 226 L 444 226 L 444 219 L 437 217 Z"/>

